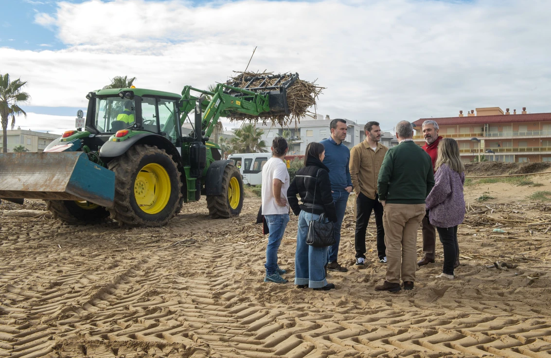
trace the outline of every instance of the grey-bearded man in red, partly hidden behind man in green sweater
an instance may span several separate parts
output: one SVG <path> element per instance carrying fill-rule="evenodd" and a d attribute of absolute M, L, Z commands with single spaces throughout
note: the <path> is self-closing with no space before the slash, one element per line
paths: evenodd
<path fill-rule="evenodd" d="M 438 123 L 435 121 L 424 121 L 423 126 L 423 135 L 425 137 L 425 145 L 423 145 L 423 150 L 430 155 L 430 159 L 433 161 L 433 170 L 434 163 L 436 162 L 436 155 L 438 151 L 438 143 L 442 137 L 438 135 L 439 127 Z M 423 258 L 417 263 L 419 266 L 426 265 L 428 263 L 434 262 L 434 246 L 436 244 L 436 229 L 433 225 L 429 223 L 429 211 L 426 211 L 426 215 L 423 218 Z"/>

